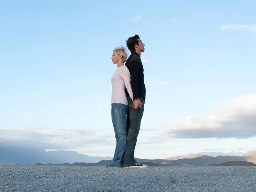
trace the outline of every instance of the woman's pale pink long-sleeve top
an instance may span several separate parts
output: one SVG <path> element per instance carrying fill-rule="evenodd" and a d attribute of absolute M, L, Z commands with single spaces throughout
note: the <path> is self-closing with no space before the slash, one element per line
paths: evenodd
<path fill-rule="evenodd" d="M 122 103 L 128 105 L 125 88 L 132 98 L 131 75 L 129 69 L 123 65 L 116 69 L 116 72 L 111 77 L 112 97 L 111 103 Z"/>

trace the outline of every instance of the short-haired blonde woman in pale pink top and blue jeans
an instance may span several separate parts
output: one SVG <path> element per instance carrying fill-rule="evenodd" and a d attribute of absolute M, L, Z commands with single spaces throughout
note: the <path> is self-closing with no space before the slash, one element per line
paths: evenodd
<path fill-rule="evenodd" d="M 106 167 L 124 167 L 123 156 L 126 149 L 126 114 L 128 111 L 125 89 L 127 89 L 127 92 L 132 98 L 131 75 L 129 69 L 124 65 L 127 59 L 127 53 L 123 46 L 114 49 L 111 59 L 117 65 L 117 69 L 111 77 L 111 116 L 116 135 L 116 149 L 113 164 L 107 165 Z"/>

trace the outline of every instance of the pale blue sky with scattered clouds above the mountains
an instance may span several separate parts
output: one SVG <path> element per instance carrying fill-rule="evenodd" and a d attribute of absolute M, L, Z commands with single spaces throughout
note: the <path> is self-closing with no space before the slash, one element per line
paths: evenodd
<path fill-rule="evenodd" d="M 113 49 L 138 34 L 138 158 L 256 150 L 256 2 L 0 2 L 0 140 L 113 156 Z M 253 19 L 254 18 L 254 19 Z"/>

